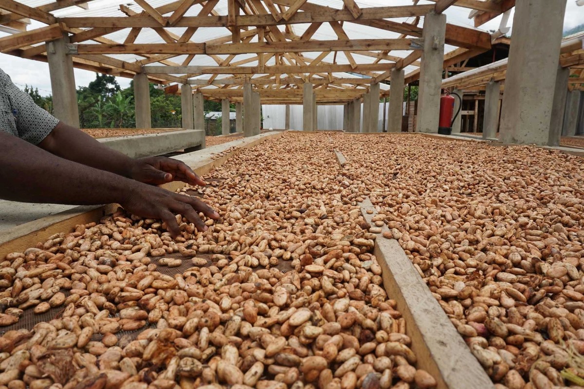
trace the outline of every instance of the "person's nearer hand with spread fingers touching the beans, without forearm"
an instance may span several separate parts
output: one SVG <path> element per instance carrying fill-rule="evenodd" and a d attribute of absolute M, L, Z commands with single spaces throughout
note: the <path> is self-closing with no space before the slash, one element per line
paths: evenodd
<path fill-rule="evenodd" d="M 140 217 L 162 219 L 173 238 L 180 234 L 175 214 L 186 217 L 199 231 L 208 229 L 199 212 L 213 220 L 219 218 L 217 211 L 196 197 L 176 194 L 157 186 L 136 183 L 135 187 L 124 193 L 127 193 L 126 199 L 120 203 L 124 209 Z"/>

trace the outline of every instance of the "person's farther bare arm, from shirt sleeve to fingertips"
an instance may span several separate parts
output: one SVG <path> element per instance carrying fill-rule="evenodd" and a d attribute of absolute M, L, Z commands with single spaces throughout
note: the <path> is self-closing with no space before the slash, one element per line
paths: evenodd
<path fill-rule="evenodd" d="M 132 159 L 112 150 L 78 128 L 59 121 L 50 134 L 39 143 L 51 154 L 116 173 L 140 182 L 161 185 L 180 180 L 190 185 L 204 186 L 205 182 L 183 162 L 165 157 Z"/>

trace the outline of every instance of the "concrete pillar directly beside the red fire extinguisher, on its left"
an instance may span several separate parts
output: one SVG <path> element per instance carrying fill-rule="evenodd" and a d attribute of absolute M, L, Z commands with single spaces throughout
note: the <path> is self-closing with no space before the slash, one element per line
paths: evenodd
<path fill-rule="evenodd" d="M 424 17 L 422 65 L 418 92 L 419 133 L 437 133 L 440 116 L 440 89 L 444 63 L 444 34 L 446 15 L 427 13 Z"/>

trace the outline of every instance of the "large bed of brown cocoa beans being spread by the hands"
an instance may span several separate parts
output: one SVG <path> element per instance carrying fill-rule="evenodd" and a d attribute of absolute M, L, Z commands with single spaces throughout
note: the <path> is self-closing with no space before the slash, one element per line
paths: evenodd
<path fill-rule="evenodd" d="M 171 241 L 158 221 L 118 211 L 9 256 L 0 319 L 52 299 L 63 310 L 0 339 L 0 385 L 446 387 L 451 372 L 425 368 L 430 334 L 408 335 L 428 326 L 403 315 L 379 239 L 401 246 L 484 367 L 474 373 L 510 389 L 582 373 L 582 158 L 422 135 L 286 133 L 221 161 L 210 185 L 179 189 L 220 210 L 208 232 L 181 223 Z M 368 199 L 375 218 L 361 213 Z M 27 289 L 15 293 L 18 280 Z M 55 298 L 62 289 L 69 296 Z"/>

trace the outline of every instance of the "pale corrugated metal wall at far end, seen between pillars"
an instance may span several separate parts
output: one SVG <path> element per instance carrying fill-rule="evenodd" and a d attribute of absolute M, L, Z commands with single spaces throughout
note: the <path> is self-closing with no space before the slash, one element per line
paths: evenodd
<path fill-rule="evenodd" d="M 389 114 L 389 103 L 385 104 L 385 118 Z M 379 117 L 377 120 L 377 131 L 383 131 L 383 108 L 384 104 L 379 103 Z M 342 130 L 343 128 L 343 106 L 342 105 L 319 105 L 318 106 L 318 130 Z M 404 112 L 405 113 L 405 103 Z M 263 128 L 275 128 L 281 130 L 286 124 L 286 106 L 284 105 L 262 105 Z M 361 104 L 361 126 L 363 121 L 363 104 Z M 303 129 L 303 107 L 301 105 L 290 106 L 290 129 Z M 361 128 L 359 128 L 361 131 Z"/>

